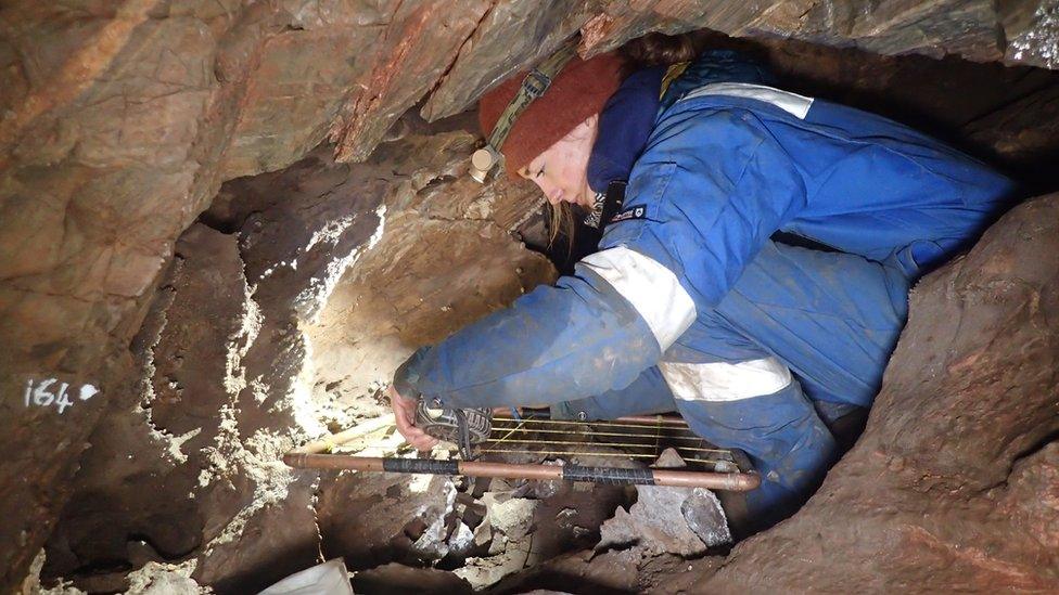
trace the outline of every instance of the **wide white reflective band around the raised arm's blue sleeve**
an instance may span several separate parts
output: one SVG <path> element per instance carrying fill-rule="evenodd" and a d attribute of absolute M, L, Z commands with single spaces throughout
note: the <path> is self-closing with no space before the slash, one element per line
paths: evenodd
<path fill-rule="evenodd" d="M 694 322 L 694 301 L 673 271 L 625 246 L 586 256 L 580 263 L 603 277 L 651 327 L 665 351 Z"/>

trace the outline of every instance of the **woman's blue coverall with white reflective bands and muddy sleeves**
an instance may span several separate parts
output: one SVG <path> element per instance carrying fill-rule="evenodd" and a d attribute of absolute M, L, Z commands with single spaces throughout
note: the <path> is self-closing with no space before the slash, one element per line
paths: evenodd
<path fill-rule="evenodd" d="M 804 499 L 835 454 L 814 402 L 870 406 L 910 283 L 1015 189 L 905 126 L 731 61 L 706 54 L 672 86 L 600 251 L 419 350 L 398 389 L 560 417 L 676 409 L 755 463 L 752 515 Z M 775 243 L 777 231 L 835 251 Z"/>

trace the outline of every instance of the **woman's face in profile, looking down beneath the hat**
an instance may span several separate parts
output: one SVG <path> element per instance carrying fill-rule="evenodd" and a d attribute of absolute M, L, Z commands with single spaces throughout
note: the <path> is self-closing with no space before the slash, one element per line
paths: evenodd
<path fill-rule="evenodd" d="M 594 115 L 577 125 L 519 170 L 519 174 L 533 180 L 552 205 L 565 202 L 591 210 L 596 193 L 588 187 L 588 157 L 596 143 L 598 121 L 599 116 Z"/>

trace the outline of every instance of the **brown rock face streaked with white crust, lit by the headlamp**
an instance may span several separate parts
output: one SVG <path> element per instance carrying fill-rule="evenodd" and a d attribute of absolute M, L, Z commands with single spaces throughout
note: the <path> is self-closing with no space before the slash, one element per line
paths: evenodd
<path fill-rule="evenodd" d="M 114 396 L 90 438 L 48 543 L 47 579 L 124 588 L 123 572 L 101 569 L 190 558 L 194 580 L 241 593 L 310 566 L 321 544 L 366 568 L 365 547 L 400 534 L 405 523 L 394 519 L 412 502 L 408 477 L 359 482 L 363 504 L 350 508 L 348 480 L 321 482 L 280 457 L 329 425 L 383 411 L 372 385 L 392 375 L 400 353 L 552 279 L 551 264 L 508 233 L 536 208 L 525 186 L 451 174 L 472 140 L 410 134 L 362 165 L 335 164 L 324 151 L 225 186 L 203 218 L 213 227 L 196 223 L 177 243 L 133 341 L 137 380 Z M 473 283 L 439 283 L 463 277 Z M 357 303 L 375 286 L 387 308 Z M 388 351 L 345 358 L 352 346 L 326 340 L 332 316 L 357 340 L 397 338 Z M 343 384 L 350 375 L 361 381 Z M 349 522 L 392 487 L 404 495 L 378 512 L 378 539 Z M 438 490 L 418 497 L 433 506 Z M 450 482 L 445 493 L 455 496 Z M 413 516 L 424 519 L 422 543 L 403 546 L 421 559 L 445 557 L 448 512 L 426 506 Z"/>

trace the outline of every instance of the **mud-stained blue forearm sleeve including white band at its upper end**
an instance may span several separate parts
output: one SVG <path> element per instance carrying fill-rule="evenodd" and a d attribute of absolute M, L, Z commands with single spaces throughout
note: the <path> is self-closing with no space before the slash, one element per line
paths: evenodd
<path fill-rule="evenodd" d="M 556 286 L 537 287 L 417 351 L 398 370 L 397 390 L 423 394 L 436 406 L 477 408 L 550 405 L 633 384 L 690 326 L 694 307 L 687 299 L 677 305 L 676 318 L 659 335 L 658 321 L 645 319 L 614 283 L 625 279 L 646 289 L 652 273 L 669 273 L 635 257 L 594 256 Z"/>

